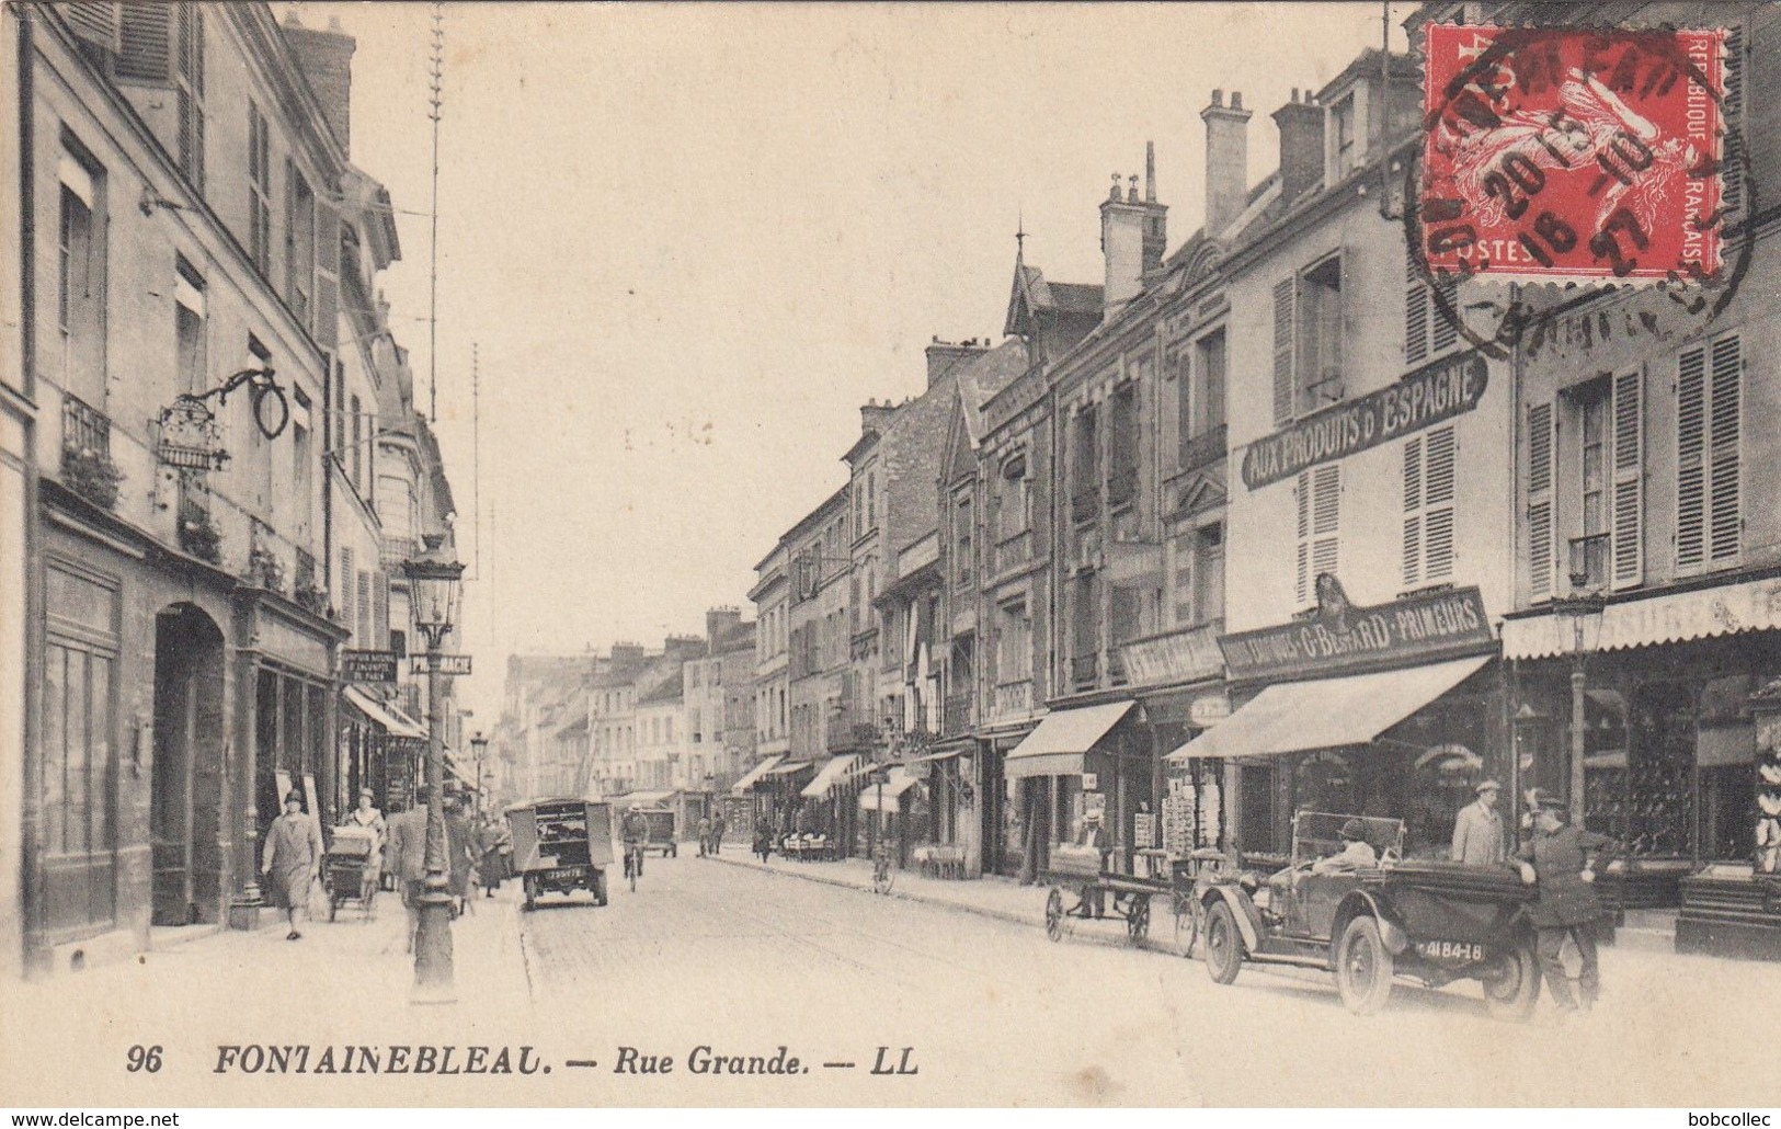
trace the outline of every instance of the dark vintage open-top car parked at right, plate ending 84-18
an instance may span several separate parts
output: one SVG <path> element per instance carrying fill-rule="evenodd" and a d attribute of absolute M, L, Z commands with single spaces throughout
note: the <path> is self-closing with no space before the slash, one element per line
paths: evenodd
<path fill-rule="evenodd" d="M 1323 862 L 1341 855 L 1350 823 L 1377 853 L 1371 865 Z M 1507 865 L 1403 858 L 1400 819 L 1300 812 L 1286 869 L 1266 883 L 1248 873 L 1213 874 L 1195 896 L 1206 969 L 1222 985 L 1252 960 L 1330 969 L 1357 1015 L 1386 1004 L 1395 976 L 1432 988 L 1476 979 L 1485 1006 L 1501 1017 L 1525 1019 L 1539 1001 L 1526 917 L 1533 887 Z"/>

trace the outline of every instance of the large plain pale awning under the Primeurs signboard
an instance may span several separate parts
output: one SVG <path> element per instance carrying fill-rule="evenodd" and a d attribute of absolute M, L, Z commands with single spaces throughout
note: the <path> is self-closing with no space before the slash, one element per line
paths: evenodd
<path fill-rule="evenodd" d="M 1343 744 L 1366 744 L 1448 693 L 1491 655 L 1430 666 L 1384 670 L 1346 678 L 1281 682 L 1188 741 L 1170 760 L 1193 757 L 1275 757 Z"/>

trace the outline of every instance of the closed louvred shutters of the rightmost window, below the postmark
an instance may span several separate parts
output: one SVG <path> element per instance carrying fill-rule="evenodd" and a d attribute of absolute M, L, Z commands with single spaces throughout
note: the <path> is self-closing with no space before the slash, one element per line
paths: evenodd
<path fill-rule="evenodd" d="M 1744 513 L 1740 338 L 1687 349 L 1676 379 L 1676 568 L 1736 561 Z"/>

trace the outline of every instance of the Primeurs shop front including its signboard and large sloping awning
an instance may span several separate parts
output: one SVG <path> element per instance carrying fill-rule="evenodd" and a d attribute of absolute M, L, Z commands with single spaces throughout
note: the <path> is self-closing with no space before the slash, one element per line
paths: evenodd
<path fill-rule="evenodd" d="M 1168 755 L 1202 785 L 1202 835 L 1222 764 L 1225 849 L 1247 864 L 1284 864 L 1295 812 L 1403 819 L 1409 857 L 1446 858 L 1476 784 L 1516 789 L 1478 591 L 1354 607 L 1320 577 L 1318 593 L 1313 618 L 1220 638 L 1236 709 Z"/>

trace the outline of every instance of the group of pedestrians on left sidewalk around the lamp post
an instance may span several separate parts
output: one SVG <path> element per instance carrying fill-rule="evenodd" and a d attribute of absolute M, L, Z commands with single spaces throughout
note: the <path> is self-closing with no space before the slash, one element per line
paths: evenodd
<path fill-rule="evenodd" d="M 272 821 L 260 851 L 260 873 L 272 905 L 285 912 L 290 931 L 285 940 L 301 940 L 297 910 L 310 905 L 322 881 L 326 846 L 321 821 L 303 810 L 299 789 L 285 794 L 285 814 Z M 415 930 L 420 921 L 420 896 L 427 878 L 427 794 L 415 805 L 385 819 L 370 789 L 362 789 L 358 807 L 342 821 L 370 832 L 370 855 L 365 860 L 363 889 L 376 890 L 383 874 L 390 874 L 408 910 L 408 947 L 413 951 Z M 483 889 L 493 898 L 502 880 L 511 876 L 513 835 L 493 817 L 472 821 L 465 812 L 463 796 L 445 794 L 445 881 L 452 899 L 452 915 L 472 908 L 472 890 Z"/>

